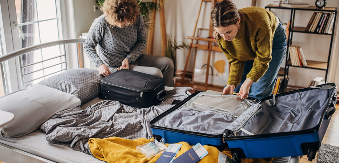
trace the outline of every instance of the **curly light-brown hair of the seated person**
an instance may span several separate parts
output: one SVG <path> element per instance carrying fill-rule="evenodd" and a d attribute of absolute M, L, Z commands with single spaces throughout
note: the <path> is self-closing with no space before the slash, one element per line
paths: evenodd
<path fill-rule="evenodd" d="M 106 21 L 114 26 L 120 23 L 131 25 L 140 14 L 135 0 L 105 0 L 100 10 L 104 13 Z"/>

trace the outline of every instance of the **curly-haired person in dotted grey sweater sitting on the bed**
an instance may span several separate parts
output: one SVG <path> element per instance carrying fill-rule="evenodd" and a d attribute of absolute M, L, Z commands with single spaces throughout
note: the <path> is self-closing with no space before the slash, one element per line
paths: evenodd
<path fill-rule="evenodd" d="M 173 61 L 167 57 L 141 54 L 146 45 L 144 20 L 135 0 L 105 0 L 103 15 L 96 18 L 88 31 L 84 49 L 107 76 L 129 69 L 163 77 L 166 86 L 173 86 Z M 98 45 L 99 50 L 95 47 Z"/>

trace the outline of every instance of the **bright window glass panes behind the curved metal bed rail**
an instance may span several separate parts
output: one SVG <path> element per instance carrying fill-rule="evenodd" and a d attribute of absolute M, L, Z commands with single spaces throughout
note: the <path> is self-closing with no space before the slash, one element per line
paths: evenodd
<path fill-rule="evenodd" d="M 56 0 L 15 0 L 15 8 L 21 48 L 60 39 Z M 19 64 L 23 88 L 66 70 L 61 46 L 24 54 Z"/>

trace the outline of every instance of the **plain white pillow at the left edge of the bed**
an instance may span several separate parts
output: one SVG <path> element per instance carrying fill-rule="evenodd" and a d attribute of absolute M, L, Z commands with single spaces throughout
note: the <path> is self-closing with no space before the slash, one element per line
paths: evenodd
<path fill-rule="evenodd" d="M 0 136 L 21 137 L 38 129 L 53 114 L 80 104 L 76 96 L 40 84 L 4 95 L 0 110 L 13 113 L 14 121 L 0 128 Z"/>

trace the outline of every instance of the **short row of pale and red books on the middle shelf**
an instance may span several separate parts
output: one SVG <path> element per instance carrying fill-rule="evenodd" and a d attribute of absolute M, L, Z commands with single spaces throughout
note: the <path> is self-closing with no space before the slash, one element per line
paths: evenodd
<path fill-rule="evenodd" d="M 292 66 L 306 67 L 307 62 L 302 51 L 299 46 L 290 46 L 288 47 L 288 53 L 290 53 L 290 59 Z"/>

